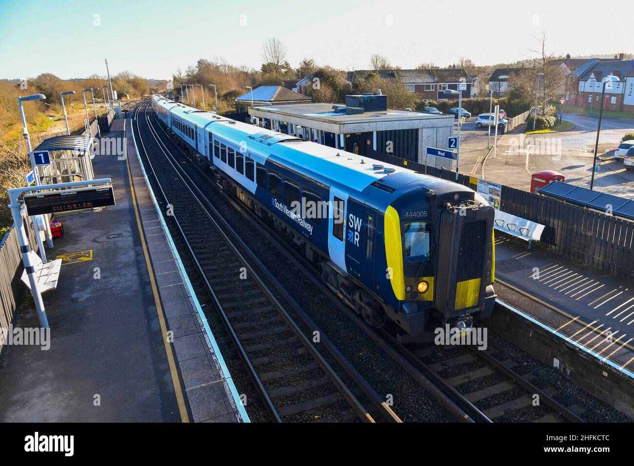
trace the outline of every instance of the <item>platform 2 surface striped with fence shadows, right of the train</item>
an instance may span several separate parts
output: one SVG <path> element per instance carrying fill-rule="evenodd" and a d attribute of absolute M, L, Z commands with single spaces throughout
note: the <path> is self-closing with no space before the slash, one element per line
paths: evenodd
<path fill-rule="evenodd" d="M 634 376 L 634 284 L 527 242 L 495 236 L 498 299 Z"/>

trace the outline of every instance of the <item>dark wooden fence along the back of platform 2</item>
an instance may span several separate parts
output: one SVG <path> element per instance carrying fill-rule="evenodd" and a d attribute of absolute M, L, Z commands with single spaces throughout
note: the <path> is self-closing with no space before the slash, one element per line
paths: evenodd
<path fill-rule="evenodd" d="M 422 163 L 389 155 L 377 158 L 425 173 Z M 427 167 L 427 174 L 477 188 L 477 179 L 462 173 L 456 180 L 455 172 Z M 509 186 L 502 186 L 500 210 L 545 225 L 541 246 L 602 273 L 634 279 L 634 222 Z"/>

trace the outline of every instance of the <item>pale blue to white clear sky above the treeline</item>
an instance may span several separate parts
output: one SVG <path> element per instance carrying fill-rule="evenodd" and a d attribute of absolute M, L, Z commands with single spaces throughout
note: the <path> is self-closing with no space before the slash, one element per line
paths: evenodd
<path fill-rule="evenodd" d="M 214 56 L 259 68 L 269 37 L 292 66 L 343 70 L 367 69 L 373 53 L 401 68 L 512 63 L 534 55 L 542 32 L 556 54 L 630 53 L 626 12 L 631 0 L 0 0 L 0 79 L 105 75 L 105 58 L 111 75 L 153 79 Z"/>

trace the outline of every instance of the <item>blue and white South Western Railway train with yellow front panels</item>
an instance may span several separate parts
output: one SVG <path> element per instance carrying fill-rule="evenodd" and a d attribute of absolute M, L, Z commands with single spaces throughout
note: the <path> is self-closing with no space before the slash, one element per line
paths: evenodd
<path fill-rule="evenodd" d="M 372 325 L 419 335 L 488 317 L 494 210 L 451 181 L 152 96 L 223 189 L 287 230 Z"/>

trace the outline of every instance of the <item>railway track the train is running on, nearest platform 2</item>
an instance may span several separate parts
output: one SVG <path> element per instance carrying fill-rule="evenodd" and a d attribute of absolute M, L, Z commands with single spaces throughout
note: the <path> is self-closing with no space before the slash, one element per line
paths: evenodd
<path fill-rule="evenodd" d="M 162 130 L 162 128 L 160 128 L 160 130 Z M 183 153 L 179 159 L 181 163 L 183 163 L 184 158 L 186 158 L 186 155 Z M 204 173 L 204 171 L 198 168 L 195 164 L 191 163 L 188 165 L 190 165 L 193 170 L 196 170 L 199 175 L 205 177 L 209 184 L 214 184 L 214 181 L 208 177 L 207 173 Z M 369 327 L 351 309 L 350 303 L 345 303 L 340 300 L 340 296 L 338 296 L 336 291 L 330 289 L 318 278 L 318 270 L 311 267 L 311 265 L 304 260 L 304 256 L 300 255 L 298 251 L 295 250 L 292 241 L 285 241 L 278 232 L 271 229 L 268 225 L 264 225 L 257 221 L 252 212 L 245 208 L 245 206 L 237 201 L 237 199 L 228 196 L 219 189 L 217 192 L 219 195 L 224 196 L 231 205 L 240 211 L 254 228 L 261 230 L 263 236 L 274 239 L 275 241 L 272 243 L 282 255 L 287 256 L 290 260 L 297 264 L 297 268 L 299 268 L 316 287 L 320 287 L 324 294 L 332 298 L 333 304 L 339 307 L 340 311 L 349 315 L 355 324 L 363 329 L 363 331 L 366 332 L 366 334 L 370 336 L 373 341 L 380 346 L 380 348 L 384 349 L 384 351 L 386 351 L 399 366 L 406 370 L 406 372 L 408 372 L 408 374 L 410 374 L 410 376 L 421 387 L 432 394 L 439 404 L 443 405 L 456 420 L 460 420 L 462 422 L 493 422 L 493 420 L 500 419 L 500 413 L 526 407 L 526 402 L 528 400 L 526 397 L 530 398 L 532 405 L 534 400 L 533 396 L 536 394 L 539 396 L 540 404 L 546 405 L 548 406 L 548 409 L 550 409 L 549 413 L 543 415 L 538 420 L 542 422 L 560 422 L 562 420 L 569 422 L 583 422 L 578 416 L 570 412 L 570 410 L 567 410 L 565 406 L 562 406 L 557 403 L 557 401 L 553 400 L 549 393 L 533 386 L 533 384 L 531 384 L 528 380 L 530 378 L 530 374 L 527 376 L 517 374 L 517 372 L 512 370 L 512 364 L 510 362 L 502 363 L 489 352 L 472 352 L 467 350 L 469 355 L 463 355 L 458 358 L 447 358 L 444 362 L 441 360 L 434 360 L 430 364 L 425 363 L 425 358 L 427 356 L 437 353 L 437 347 L 435 347 L 436 351 L 434 351 L 434 348 L 430 349 L 429 347 L 427 349 L 414 348 L 410 350 L 405 345 L 396 341 L 396 339 L 394 339 L 394 337 L 392 337 L 388 332 Z M 290 238 L 287 238 L 287 240 L 290 240 Z M 448 350 L 444 349 L 444 351 L 449 354 L 452 349 L 457 348 L 453 347 Z M 464 347 L 462 347 L 462 349 L 464 349 Z M 463 382 L 469 382 L 470 379 L 479 378 L 476 377 L 478 374 L 489 375 L 489 379 L 496 379 L 496 377 L 500 379 L 505 377 L 507 380 L 500 381 L 493 387 L 481 387 L 475 390 L 475 392 L 470 392 L 468 385 L 462 387 L 460 383 L 456 383 L 459 379 L 443 377 L 443 370 L 446 372 L 449 367 L 457 368 L 463 363 L 472 363 L 473 360 L 481 360 L 482 365 L 486 366 L 486 368 L 476 374 L 463 374 Z M 494 373 L 498 375 L 491 376 L 491 374 Z M 476 406 L 479 401 L 487 398 L 488 396 L 505 393 L 507 391 L 514 391 L 517 389 L 524 390 L 525 394 L 519 396 L 518 398 L 514 398 L 514 400 L 500 403 L 496 406 L 486 406 L 486 408 L 483 407 L 481 409 Z"/>

